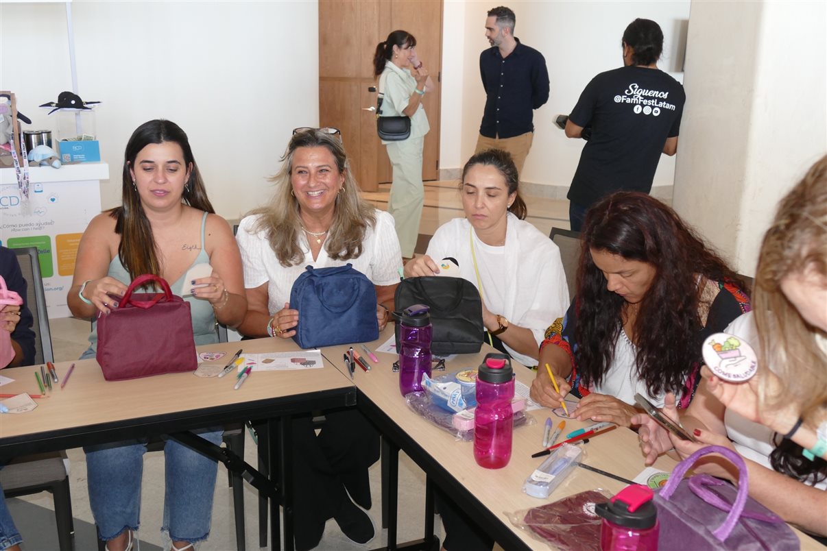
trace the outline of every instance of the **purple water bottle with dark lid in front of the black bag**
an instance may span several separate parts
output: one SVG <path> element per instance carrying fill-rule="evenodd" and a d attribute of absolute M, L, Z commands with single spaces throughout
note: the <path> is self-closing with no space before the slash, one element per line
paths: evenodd
<path fill-rule="evenodd" d="M 422 391 L 422 374 L 431 376 L 433 326 L 428 306 L 414 304 L 394 312 L 399 321 L 399 392 Z"/>

